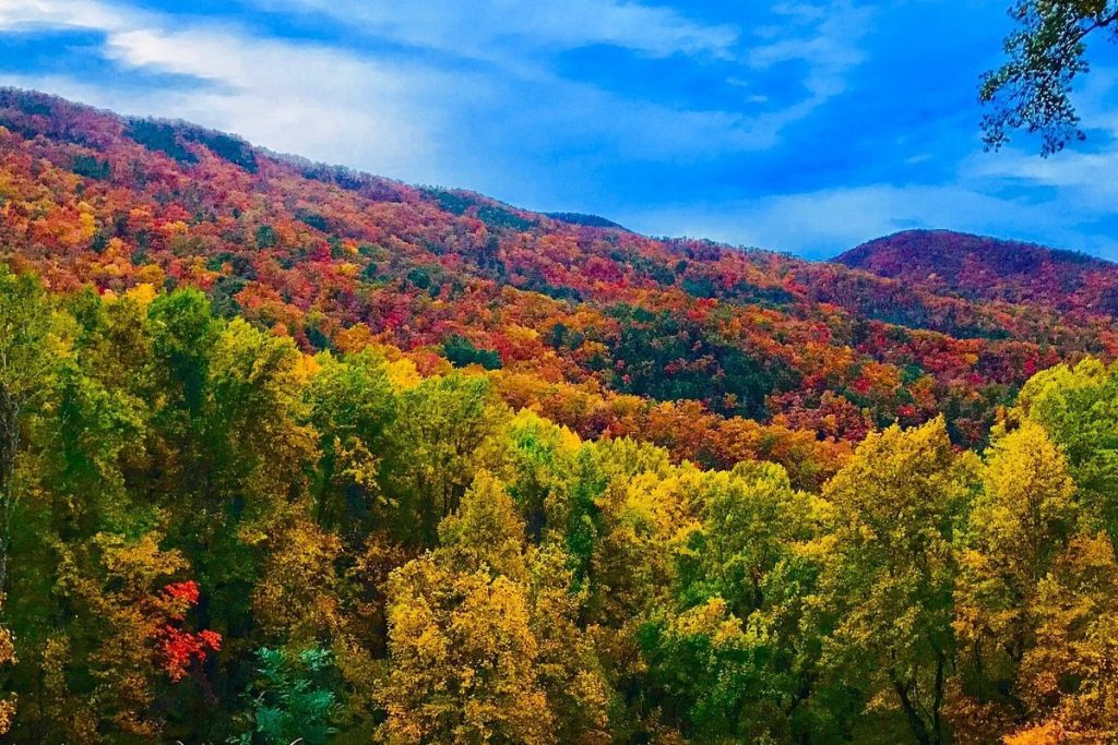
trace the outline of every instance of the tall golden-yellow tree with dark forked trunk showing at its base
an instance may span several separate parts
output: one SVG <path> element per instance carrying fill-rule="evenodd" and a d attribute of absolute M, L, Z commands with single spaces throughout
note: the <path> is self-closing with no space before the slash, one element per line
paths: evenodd
<path fill-rule="evenodd" d="M 871 705 L 899 710 L 921 745 L 948 737 L 951 542 L 969 471 L 940 418 L 870 434 L 823 493 L 836 525 L 821 601 L 837 618 L 824 665 Z"/>

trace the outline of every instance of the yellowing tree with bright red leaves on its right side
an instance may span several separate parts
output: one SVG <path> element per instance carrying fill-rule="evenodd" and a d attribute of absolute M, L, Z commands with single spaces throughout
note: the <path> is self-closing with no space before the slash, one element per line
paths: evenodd
<path fill-rule="evenodd" d="M 218 634 L 182 630 L 199 589 L 171 581 L 188 563 L 159 537 L 100 533 L 63 550 L 58 590 L 75 618 L 48 642 L 45 667 L 53 718 L 69 739 L 157 738 L 160 691 L 220 649 Z"/>

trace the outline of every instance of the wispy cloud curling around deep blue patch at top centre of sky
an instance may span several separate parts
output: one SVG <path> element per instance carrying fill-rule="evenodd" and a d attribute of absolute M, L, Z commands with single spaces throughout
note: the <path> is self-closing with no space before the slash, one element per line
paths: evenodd
<path fill-rule="evenodd" d="M 784 130 L 846 90 L 850 73 L 863 60 L 859 42 L 872 11 L 852 0 L 826 0 L 775 8 L 781 25 L 748 35 L 729 23 L 701 23 L 678 10 L 619 0 L 253 0 L 277 12 L 325 15 L 378 40 L 492 63 L 501 76 L 547 88 L 553 111 L 531 112 L 541 121 L 577 124 L 574 136 L 593 133 L 617 141 L 641 157 L 701 159 L 717 152 L 757 151 L 779 144 Z M 778 36 L 779 38 L 774 38 Z M 737 66 L 726 84 L 743 87 L 741 109 L 686 111 L 631 101 L 591 85 L 559 79 L 546 57 L 557 50 L 615 45 L 652 57 L 708 56 Z M 746 113 L 764 105 L 750 78 L 781 63 L 803 63 L 803 97 L 784 108 Z M 515 113 L 513 116 L 519 114 Z M 690 147 L 690 150 L 688 150 Z"/>

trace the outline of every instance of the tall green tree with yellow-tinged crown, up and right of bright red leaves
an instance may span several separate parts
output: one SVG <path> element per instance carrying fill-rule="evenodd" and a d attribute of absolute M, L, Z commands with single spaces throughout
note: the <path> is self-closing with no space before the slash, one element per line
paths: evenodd
<path fill-rule="evenodd" d="M 299 371 L 302 355 L 237 318 L 203 357 L 198 422 L 179 467 L 190 471 L 172 514 L 172 539 L 214 589 L 215 623 L 233 633 L 252 624 L 249 600 L 268 538 L 305 510 L 315 460 Z M 229 624 L 229 625 L 226 625 Z"/>

